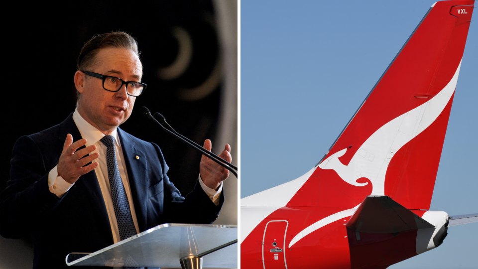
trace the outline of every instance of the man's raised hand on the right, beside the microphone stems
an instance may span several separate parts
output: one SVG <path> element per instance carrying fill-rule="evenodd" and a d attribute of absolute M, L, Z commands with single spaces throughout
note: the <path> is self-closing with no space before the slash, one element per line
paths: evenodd
<path fill-rule="evenodd" d="M 211 151 L 211 147 L 211 140 L 206 139 L 204 141 L 204 148 Z M 223 152 L 221 152 L 221 154 L 219 154 L 218 156 L 228 162 L 231 162 L 233 160 L 233 158 L 231 157 L 231 146 L 229 146 L 229 144 L 226 144 Z M 201 157 L 201 163 L 199 163 L 199 173 L 201 175 L 203 183 L 209 188 L 215 190 L 217 190 L 221 182 L 229 176 L 228 169 L 217 164 L 205 155 Z"/>

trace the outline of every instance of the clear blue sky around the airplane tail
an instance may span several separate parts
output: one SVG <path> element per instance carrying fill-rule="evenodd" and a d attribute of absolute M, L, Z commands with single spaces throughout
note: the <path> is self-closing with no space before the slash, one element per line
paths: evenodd
<path fill-rule="evenodd" d="M 240 197 L 327 152 L 432 1 L 241 1 Z M 431 210 L 478 213 L 478 24 L 465 47 Z M 477 268 L 478 223 L 389 267 Z"/>

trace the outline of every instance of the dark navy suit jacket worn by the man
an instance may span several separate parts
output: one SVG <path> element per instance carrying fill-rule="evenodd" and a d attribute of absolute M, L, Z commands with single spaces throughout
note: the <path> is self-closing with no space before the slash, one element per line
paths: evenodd
<path fill-rule="evenodd" d="M 72 252 L 92 253 L 113 244 L 105 202 L 95 171 L 81 176 L 59 199 L 48 189 L 67 134 L 81 139 L 71 114 L 64 122 L 20 137 L 13 146 L 10 180 L 0 195 L 0 234 L 31 235 L 33 268 L 68 268 Z M 214 205 L 199 183 L 186 198 L 167 176 L 159 147 L 118 128 L 139 231 L 163 223 L 212 223 L 224 201 Z M 139 156 L 139 159 L 136 159 Z"/>

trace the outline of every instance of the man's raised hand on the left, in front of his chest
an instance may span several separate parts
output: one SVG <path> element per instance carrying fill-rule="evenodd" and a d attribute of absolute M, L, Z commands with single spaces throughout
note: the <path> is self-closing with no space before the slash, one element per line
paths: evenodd
<path fill-rule="evenodd" d="M 86 139 L 80 139 L 74 143 L 72 142 L 73 136 L 71 134 L 67 134 L 65 143 L 63 144 L 63 151 L 61 152 L 57 166 L 58 176 L 61 176 L 70 184 L 75 183 L 80 176 L 95 169 L 98 166 L 98 162 L 94 162 L 87 166 L 84 165 L 100 156 L 99 153 L 93 153 L 80 159 L 81 157 L 95 150 L 96 145 L 90 145 L 76 151 L 79 147 L 86 144 Z"/>

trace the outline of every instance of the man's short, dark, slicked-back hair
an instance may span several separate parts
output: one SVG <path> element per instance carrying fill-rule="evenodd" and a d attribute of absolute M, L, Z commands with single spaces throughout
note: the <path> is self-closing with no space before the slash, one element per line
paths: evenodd
<path fill-rule="evenodd" d="M 88 68 L 96 64 L 96 55 L 103 48 L 125 48 L 133 51 L 136 55 L 140 55 L 138 51 L 138 43 L 129 34 L 119 31 L 94 35 L 88 42 L 83 45 L 78 56 L 76 65 L 77 70 L 86 71 Z M 76 92 L 77 106 L 80 101 L 80 92 Z"/>

